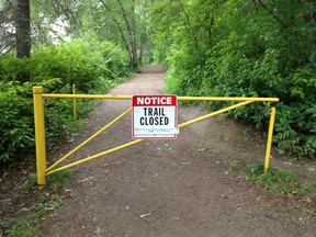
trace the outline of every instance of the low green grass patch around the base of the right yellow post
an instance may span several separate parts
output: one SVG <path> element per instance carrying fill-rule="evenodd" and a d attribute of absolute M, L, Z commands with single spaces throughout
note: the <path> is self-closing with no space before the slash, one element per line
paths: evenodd
<path fill-rule="evenodd" d="M 276 193 L 296 194 L 306 192 L 306 189 L 298 182 L 297 174 L 294 172 L 270 167 L 267 174 L 263 174 L 263 163 L 235 163 L 234 167 L 257 185 L 264 187 Z"/>

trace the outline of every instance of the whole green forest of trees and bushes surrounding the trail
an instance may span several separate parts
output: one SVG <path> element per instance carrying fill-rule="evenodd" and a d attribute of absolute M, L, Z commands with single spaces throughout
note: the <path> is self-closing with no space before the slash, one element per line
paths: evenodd
<path fill-rule="evenodd" d="M 315 158 L 314 0 L 1 0 L 0 25 L 1 167 L 34 158 L 33 86 L 102 93 L 151 63 L 168 68 L 168 93 L 280 98 L 276 149 Z M 78 103 L 84 117 L 92 104 Z M 47 100 L 45 114 L 49 148 L 82 125 L 71 101 Z M 259 103 L 228 115 L 269 123 Z"/>

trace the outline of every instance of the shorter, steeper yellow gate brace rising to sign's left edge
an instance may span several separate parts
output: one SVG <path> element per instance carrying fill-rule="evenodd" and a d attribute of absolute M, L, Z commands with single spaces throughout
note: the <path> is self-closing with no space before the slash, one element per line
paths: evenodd
<path fill-rule="evenodd" d="M 48 169 L 46 170 L 49 171 L 52 169 L 54 169 L 56 166 L 58 166 L 60 162 L 63 162 L 64 160 L 66 160 L 68 157 L 70 157 L 72 154 L 75 154 L 77 150 L 79 150 L 80 148 L 82 148 L 83 146 L 86 146 L 88 143 L 90 143 L 92 139 L 94 139 L 95 137 L 98 137 L 100 134 L 102 134 L 105 129 L 108 129 L 110 126 L 112 126 L 113 124 L 115 124 L 117 121 L 120 121 L 122 117 L 124 117 L 126 114 L 128 114 L 131 112 L 132 108 L 129 108 L 128 110 L 126 110 L 124 113 L 122 113 L 120 116 L 117 116 L 115 120 L 113 120 L 112 122 L 110 122 L 109 124 L 106 124 L 103 128 L 101 128 L 99 132 L 97 132 L 95 134 L 93 134 L 91 137 L 89 137 L 87 140 L 84 140 L 83 143 L 81 143 L 79 146 L 77 146 L 75 149 L 72 149 L 70 153 L 68 153 L 66 156 L 61 157 L 58 161 L 56 161 L 53 166 L 48 167 Z"/>

